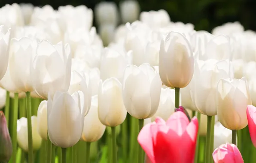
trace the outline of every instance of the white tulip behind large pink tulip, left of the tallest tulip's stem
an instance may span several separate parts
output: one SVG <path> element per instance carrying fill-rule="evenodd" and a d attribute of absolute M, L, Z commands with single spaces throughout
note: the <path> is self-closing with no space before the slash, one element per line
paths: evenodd
<path fill-rule="evenodd" d="M 175 91 L 170 88 L 161 88 L 160 102 L 155 115 L 151 117 L 151 121 L 155 121 L 156 117 L 161 117 L 163 120 L 167 121 L 170 116 L 174 113 L 174 100 Z"/>

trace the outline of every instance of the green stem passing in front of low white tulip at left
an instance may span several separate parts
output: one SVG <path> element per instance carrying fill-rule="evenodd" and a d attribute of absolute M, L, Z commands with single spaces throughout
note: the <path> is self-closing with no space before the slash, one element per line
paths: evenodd
<path fill-rule="evenodd" d="M 30 97 L 30 92 L 26 92 L 26 103 L 27 103 L 28 163 L 33 163 L 33 138 L 32 138 L 31 97 Z"/>

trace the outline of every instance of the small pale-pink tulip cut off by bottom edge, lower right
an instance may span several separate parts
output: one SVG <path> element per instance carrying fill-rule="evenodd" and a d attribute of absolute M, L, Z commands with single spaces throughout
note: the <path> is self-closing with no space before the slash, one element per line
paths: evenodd
<path fill-rule="evenodd" d="M 214 163 L 244 163 L 243 157 L 234 144 L 222 144 L 213 151 Z"/>

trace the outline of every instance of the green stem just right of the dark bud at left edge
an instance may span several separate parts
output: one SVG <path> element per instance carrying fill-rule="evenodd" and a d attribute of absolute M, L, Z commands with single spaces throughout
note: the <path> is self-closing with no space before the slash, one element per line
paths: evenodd
<path fill-rule="evenodd" d="M 17 153 L 17 119 L 18 119 L 18 93 L 14 94 L 14 105 L 12 110 L 12 163 L 16 163 Z"/>

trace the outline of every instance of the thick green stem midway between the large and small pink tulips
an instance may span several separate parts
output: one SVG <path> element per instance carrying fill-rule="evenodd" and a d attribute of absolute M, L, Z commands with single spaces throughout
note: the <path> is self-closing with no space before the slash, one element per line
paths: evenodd
<path fill-rule="evenodd" d="M 206 149 L 205 149 L 205 163 L 210 163 L 210 137 L 211 137 L 211 123 L 212 116 L 207 116 L 207 135 L 206 135 Z"/>

